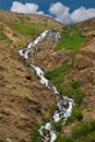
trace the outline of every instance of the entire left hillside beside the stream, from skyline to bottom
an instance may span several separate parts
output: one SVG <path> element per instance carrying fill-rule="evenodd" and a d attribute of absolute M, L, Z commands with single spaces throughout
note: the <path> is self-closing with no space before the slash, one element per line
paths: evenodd
<path fill-rule="evenodd" d="M 35 141 L 39 138 L 38 126 L 51 118 L 56 100 L 52 93 L 36 79 L 28 62 L 20 57 L 17 49 L 44 29 L 52 25 L 54 28 L 61 27 L 61 24 L 45 16 L 3 10 L 0 10 L 0 140 Z M 25 28 L 20 31 L 23 26 Z"/>

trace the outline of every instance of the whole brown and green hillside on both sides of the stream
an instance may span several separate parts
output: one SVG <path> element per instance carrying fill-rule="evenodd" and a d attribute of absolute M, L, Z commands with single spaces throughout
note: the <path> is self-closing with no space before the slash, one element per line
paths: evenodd
<path fill-rule="evenodd" d="M 0 10 L 0 140 L 3 142 L 41 142 L 37 130 L 51 119 L 56 109 L 55 96 L 39 83 L 28 61 L 17 54 L 48 28 L 60 31 L 60 40 L 44 38 L 36 46 L 37 52 L 31 50 L 29 62 L 43 68 L 58 91 L 76 103 L 57 142 L 63 141 L 63 135 L 74 142 L 73 129 L 95 120 L 95 19 L 64 26 L 50 17 Z M 94 139 L 92 133 L 85 138 L 88 134 Z M 78 142 L 87 141 L 78 138 Z"/>

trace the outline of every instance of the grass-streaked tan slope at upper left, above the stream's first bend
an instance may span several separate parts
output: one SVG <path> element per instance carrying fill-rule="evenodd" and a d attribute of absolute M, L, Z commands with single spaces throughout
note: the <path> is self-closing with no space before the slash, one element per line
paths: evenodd
<path fill-rule="evenodd" d="M 19 14 L 0 10 L 0 38 L 19 49 L 47 28 L 61 29 L 62 25 L 43 15 Z"/>

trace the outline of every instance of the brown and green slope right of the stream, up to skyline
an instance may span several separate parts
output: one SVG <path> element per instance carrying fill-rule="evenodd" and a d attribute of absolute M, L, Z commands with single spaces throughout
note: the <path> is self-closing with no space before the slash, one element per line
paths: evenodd
<path fill-rule="evenodd" d="M 70 47 L 72 45 L 70 43 L 63 47 L 63 43 L 60 51 L 66 47 L 69 48 L 68 56 L 63 58 L 63 64 L 46 73 L 46 76 L 57 85 L 59 92 L 74 97 L 74 102 L 81 105 L 80 107 L 74 106 L 72 116 L 67 121 L 67 126 L 63 127 L 61 135 L 64 137 L 72 137 L 72 130 L 82 122 L 86 123 L 95 120 L 95 19 L 81 23 L 78 29 L 75 26 L 69 26 L 72 29 L 71 32 L 68 31 L 68 42 L 69 38 L 71 38 L 71 42 L 75 40 L 76 37 L 73 36 L 73 29 L 75 29 L 74 32 L 79 31 L 82 34 L 85 43 L 81 44 L 80 47 L 75 47 L 72 43 L 74 48 Z M 70 34 L 72 34 L 71 37 Z M 66 37 L 62 39 L 66 39 Z M 79 43 L 76 42 L 76 44 Z M 85 93 L 84 98 L 82 98 L 83 92 L 80 92 L 80 88 Z M 82 99 L 83 102 L 80 102 Z M 80 114 L 80 110 L 82 114 Z M 59 138 L 57 142 L 62 139 Z M 94 135 L 92 135 L 92 140 L 95 140 Z M 90 142 L 91 138 L 85 135 L 85 139 L 80 141 Z"/>

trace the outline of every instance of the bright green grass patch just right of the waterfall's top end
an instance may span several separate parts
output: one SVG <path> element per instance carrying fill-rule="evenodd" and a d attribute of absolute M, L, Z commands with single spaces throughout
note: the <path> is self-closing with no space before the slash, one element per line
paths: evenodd
<path fill-rule="evenodd" d="M 54 50 L 73 50 L 78 51 L 79 47 L 85 43 L 85 38 L 81 34 L 81 25 L 72 24 L 63 27 L 61 38 Z"/>

